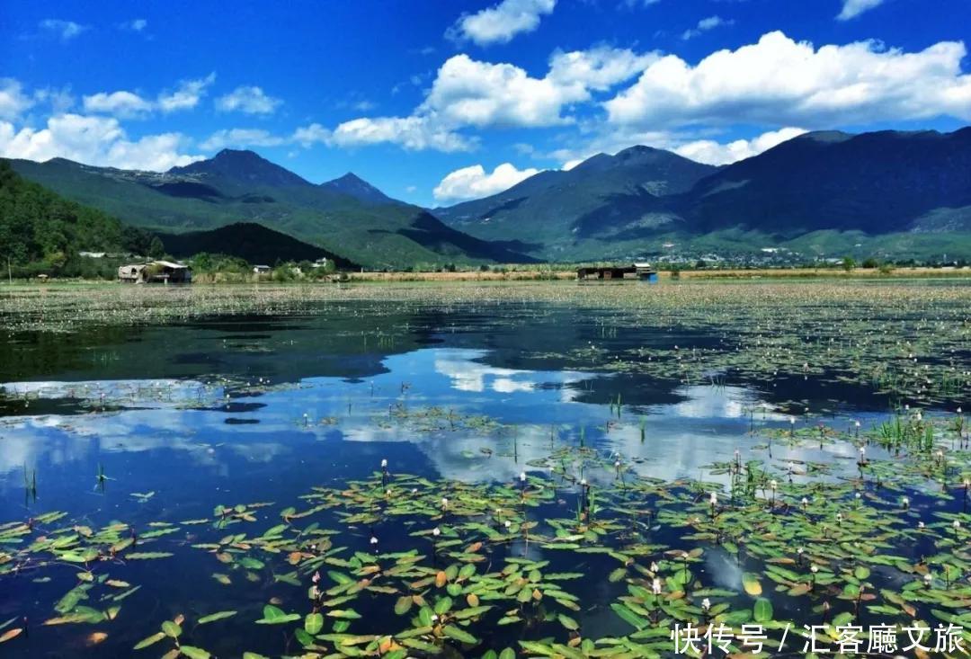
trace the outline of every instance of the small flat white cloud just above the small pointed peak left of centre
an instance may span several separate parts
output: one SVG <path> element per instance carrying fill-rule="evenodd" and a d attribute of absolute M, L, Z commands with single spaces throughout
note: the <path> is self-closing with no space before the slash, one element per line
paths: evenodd
<path fill-rule="evenodd" d="M 331 133 L 328 144 L 358 147 L 391 143 L 409 150 L 470 150 L 474 142 L 442 127 L 433 116 L 378 116 L 345 121 Z"/>

